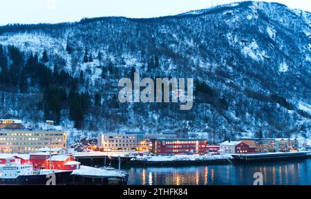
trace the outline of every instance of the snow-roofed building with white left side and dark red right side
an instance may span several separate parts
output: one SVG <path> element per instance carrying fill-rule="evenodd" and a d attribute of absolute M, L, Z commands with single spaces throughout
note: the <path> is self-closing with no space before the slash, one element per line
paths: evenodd
<path fill-rule="evenodd" d="M 255 147 L 241 141 L 226 141 L 220 144 L 223 153 L 255 153 Z"/>

